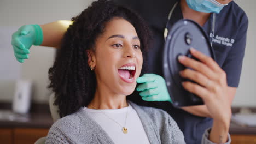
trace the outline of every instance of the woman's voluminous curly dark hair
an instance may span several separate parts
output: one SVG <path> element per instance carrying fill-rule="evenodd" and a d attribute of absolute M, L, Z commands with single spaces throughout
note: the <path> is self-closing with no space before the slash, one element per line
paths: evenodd
<path fill-rule="evenodd" d="M 88 65 L 86 50 L 94 51 L 96 38 L 104 32 L 106 23 L 114 17 L 125 19 L 135 27 L 145 61 L 145 52 L 152 39 L 146 22 L 131 9 L 114 2 L 107 0 L 92 2 L 91 6 L 72 18 L 73 24 L 67 29 L 62 39 L 61 50 L 56 56 L 53 67 L 49 69 L 48 88 L 55 93 L 54 105 L 59 107 L 60 117 L 87 106 L 94 98 L 96 77 Z M 145 67 L 146 65 L 143 64 L 142 73 Z M 137 104 L 141 100 L 136 91 L 127 99 Z"/>

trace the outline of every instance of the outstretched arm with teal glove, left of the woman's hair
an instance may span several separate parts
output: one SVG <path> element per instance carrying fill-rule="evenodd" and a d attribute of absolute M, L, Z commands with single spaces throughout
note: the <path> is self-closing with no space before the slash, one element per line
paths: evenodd
<path fill-rule="evenodd" d="M 23 63 L 28 59 L 32 45 L 60 47 L 61 39 L 72 21 L 60 20 L 45 25 L 25 25 L 11 36 L 14 55 Z"/>

